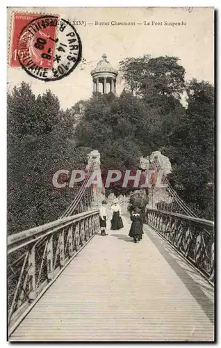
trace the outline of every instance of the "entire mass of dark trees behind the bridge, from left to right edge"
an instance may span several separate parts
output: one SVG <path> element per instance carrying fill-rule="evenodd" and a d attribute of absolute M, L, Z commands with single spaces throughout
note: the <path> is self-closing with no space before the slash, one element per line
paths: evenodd
<path fill-rule="evenodd" d="M 179 196 L 213 219 L 213 86 L 185 83 L 176 57 L 126 58 L 120 70 L 126 87 L 120 97 L 95 93 L 66 111 L 50 90 L 35 97 L 22 83 L 8 94 L 9 233 L 58 219 L 74 190 L 55 189 L 52 177 L 62 168 L 84 168 L 90 150 L 101 153 L 104 177 L 110 168 L 136 171 L 140 156 L 161 150 Z M 110 191 L 131 187 L 116 182 Z"/>

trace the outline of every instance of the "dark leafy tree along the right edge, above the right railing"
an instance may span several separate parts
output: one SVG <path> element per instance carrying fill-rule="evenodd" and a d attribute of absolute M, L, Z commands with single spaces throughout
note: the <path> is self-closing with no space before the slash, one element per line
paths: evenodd
<path fill-rule="evenodd" d="M 186 117 L 168 136 L 164 153 L 175 189 L 204 219 L 213 219 L 214 88 L 193 79 L 186 90 Z"/>

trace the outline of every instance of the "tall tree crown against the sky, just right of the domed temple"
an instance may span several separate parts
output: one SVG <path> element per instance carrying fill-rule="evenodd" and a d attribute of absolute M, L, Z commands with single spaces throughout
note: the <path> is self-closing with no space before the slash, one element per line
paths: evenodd
<path fill-rule="evenodd" d="M 126 58 L 120 62 L 120 70 L 131 92 L 146 97 L 154 104 L 159 96 L 173 96 L 179 99 L 185 87 L 185 69 L 179 65 L 179 58 L 160 56 L 151 58 Z"/>

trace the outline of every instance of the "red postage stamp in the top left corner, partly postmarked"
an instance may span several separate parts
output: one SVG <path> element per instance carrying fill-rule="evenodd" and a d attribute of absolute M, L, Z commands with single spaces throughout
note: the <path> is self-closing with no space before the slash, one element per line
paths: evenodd
<path fill-rule="evenodd" d="M 13 28 L 10 42 L 10 66 L 13 68 L 21 66 L 19 62 L 19 40 L 21 40 L 22 32 L 28 33 L 29 55 L 32 61 L 40 68 L 52 69 L 54 65 L 54 52 L 56 46 L 56 25 L 49 25 L 47 16 L 44 24 L 40 27 L 36 24 L 35 19 L 42 17 L 40 14 L 14 13 Z M 49 40 L 49 38 L 51 40 Z M 27 40 L 23 38 L 22 40 Z"/>

